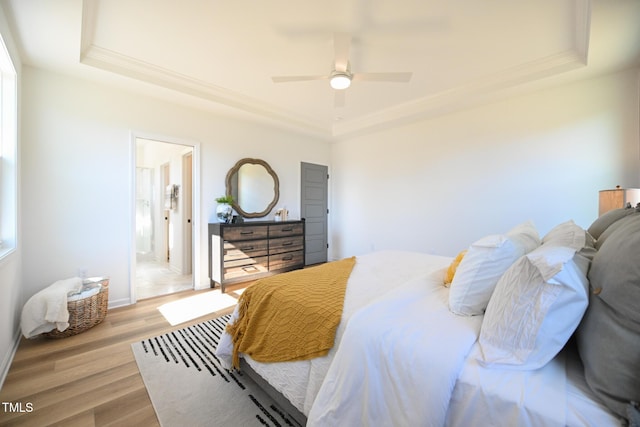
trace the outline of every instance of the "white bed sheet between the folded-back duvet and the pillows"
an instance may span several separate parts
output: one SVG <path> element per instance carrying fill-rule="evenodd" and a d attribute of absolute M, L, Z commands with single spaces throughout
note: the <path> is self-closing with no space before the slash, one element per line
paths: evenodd
<path fill-rule="evenodd" d="M 620 425 L 587 386 L 571 345 L 534 371 L 482 367 L 478 352 L 476 343 L 451 397 L 446 426 Z"/>

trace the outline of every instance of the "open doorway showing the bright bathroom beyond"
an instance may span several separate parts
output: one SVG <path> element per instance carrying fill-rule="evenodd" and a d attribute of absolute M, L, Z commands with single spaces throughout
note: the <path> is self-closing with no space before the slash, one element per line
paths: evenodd
<path fill-rule="evenodd" d="M 194 289 L 193 147 L 135 145 L 135 299 Z"/>

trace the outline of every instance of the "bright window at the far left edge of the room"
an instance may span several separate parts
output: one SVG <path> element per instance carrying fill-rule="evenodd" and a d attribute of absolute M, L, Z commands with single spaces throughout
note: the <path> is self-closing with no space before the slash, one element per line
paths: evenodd
<path fill-rule="evenodd" d="M 17 78 L 0 35 L 0 258 L 12 252 L 17 238 L 18 120 Z"/>

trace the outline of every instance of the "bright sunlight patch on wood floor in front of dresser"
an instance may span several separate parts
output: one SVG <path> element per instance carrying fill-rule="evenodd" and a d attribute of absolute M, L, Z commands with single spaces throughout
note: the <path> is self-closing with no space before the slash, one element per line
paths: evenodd
<path fill-rule="evenodd" d="M 175 326 L 215 311 L 224 310 L 236 305 L 237 302 L 238 300 L 234 297 L 216 290 L 163 304 L 158 307 L 158 310 L 171 326 Z"/>

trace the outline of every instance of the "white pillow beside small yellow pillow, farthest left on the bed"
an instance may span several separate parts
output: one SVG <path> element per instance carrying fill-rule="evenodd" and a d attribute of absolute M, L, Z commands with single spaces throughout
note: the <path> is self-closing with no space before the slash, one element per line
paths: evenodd
<path fill-rule="evenodd" d="M 449 309 L 463 316 L 484 313 L 498 279 L 518 258 L 539 245 L 540 237 L 531 221 L 507 234 L 486 236 L 473 243 L 453 277 Z"/>

